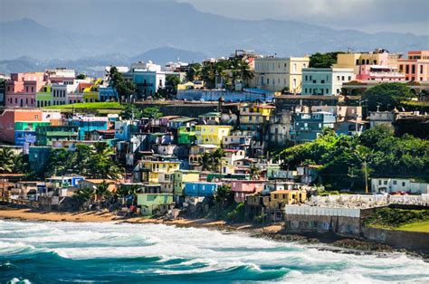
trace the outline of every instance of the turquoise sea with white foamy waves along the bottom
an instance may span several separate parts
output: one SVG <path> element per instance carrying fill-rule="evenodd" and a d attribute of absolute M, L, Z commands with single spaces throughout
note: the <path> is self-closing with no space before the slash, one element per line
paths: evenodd
<path fill-rule="evenodd" d="M 429 282 L 429 264 L 160 224 L 0 220 L 0 283 Z"/>

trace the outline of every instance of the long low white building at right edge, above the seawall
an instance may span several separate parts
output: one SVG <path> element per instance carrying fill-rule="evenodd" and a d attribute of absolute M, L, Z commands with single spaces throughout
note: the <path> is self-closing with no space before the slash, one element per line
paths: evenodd
<path fill-rule="evenodd" d="M 374 193 L 407 192 L 411 194 L 429 193 L 429 184 L 418 183 L 409 178 L 379 177 L 371 178 L 371 189 Z"/>

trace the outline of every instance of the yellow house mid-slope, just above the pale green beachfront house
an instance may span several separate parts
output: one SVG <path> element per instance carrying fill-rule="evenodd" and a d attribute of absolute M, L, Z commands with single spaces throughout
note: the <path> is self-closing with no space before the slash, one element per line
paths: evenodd
<path fill-rule="evenodd" d="M 174 174 L 180 168 L 180 162 L 144 160 L 140 162 L 139 166 L 140 170 L 144 172 L 141 177 L 142 181 L 158 183 L 161 175 Z"/>

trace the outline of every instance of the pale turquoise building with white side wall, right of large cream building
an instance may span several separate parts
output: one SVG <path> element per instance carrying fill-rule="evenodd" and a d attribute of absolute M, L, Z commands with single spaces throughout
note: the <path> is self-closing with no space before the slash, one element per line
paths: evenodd
<path fill-rule="evenodd" d="M 341 93 L 343 83 L 355 80 L 353 69 L 305 68 L 302 70 L 302 95 L 331 96 Z"/>

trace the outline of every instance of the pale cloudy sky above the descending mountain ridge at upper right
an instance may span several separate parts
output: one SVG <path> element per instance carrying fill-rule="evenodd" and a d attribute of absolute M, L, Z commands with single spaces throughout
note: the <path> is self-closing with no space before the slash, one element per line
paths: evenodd
<path fill-rule="evenodd" d="M 369 33 L 429 34 L 429 0 L 178 0 L 234 18 L 296 20 Z"/>

